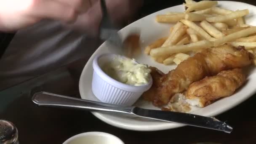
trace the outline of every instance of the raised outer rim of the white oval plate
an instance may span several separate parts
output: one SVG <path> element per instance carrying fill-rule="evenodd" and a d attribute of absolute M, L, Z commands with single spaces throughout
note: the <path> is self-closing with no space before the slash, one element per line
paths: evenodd
<path fill-rule="evenodd" d="M 243 5 L 248 5 L 250 7 L 254 7 L 256 9 L 256 6 L 255 5 L 251 5 L 251 4 L 248 4 L 248 3 L 243 3 L 243 2 L 237 2 L 237 1 L 228 1 L 228 0 L 223 0 L 223 1 L 218 1 L 219 4 L 221 3 L 240 3 L 240 4 L 243 4 Z M 181 5 L 174 5 L 172 7 L 169 7 L 169 8 L 173 8 L 173 7 L 176 7 L 176 6 L 182 6 Z M 162 9 L 160 11 L 164 11 L 164 10 L 167 10 L 169 8 L 165 8 L 165 9 Z M 155 13 L 157 13 L 159 11 L 156 11 Z M 148 16 L 151 16 L 151 15 L 154 15 L 155 13 L 151 13 L 149 14 Z M 145 16 L 147 17 L 147 16 Z M 143 18 L 145 18 L 143 17 Z M 141 18 L 141 19 L 143 19 Z M 137 21 L 140 21 L 141 19 L 138 19 Z M 133 23 L 135 23 L 136 21 L 134 21 Z M 131 24 L 133 24 L 131 23 Z M 126 27 L 129 27 L 131 24 L 127 25 Z M 125 29 L 126 27 L 120 29 L 120 31 L 122 31 L 123 29 Z M 85 69 L 87 69 L 90 65 L 88 64 L 89 61 L 92 61 L 93 58 L 97 55 L 98 51 L 100 51 L 101 47 L 103 47 L 104 45 L 106 44 L 106 42 L 102 43 L 99 48 L 96 49 L 96 51 L 91 55 L 90 59 L 88 59 L 88 61 L 86 62 L 84 68 L 83 68 L 83 71 L 80 75 L 80 79 L 79 79 L 79 92 L 80 92 L 80 95 L 84 95 L 83 91 L 81 91 L 81 79 L 82 79 L 82 74 L 84 73 Z M 244 101 L 246 101 L 247 99 L 249 99 L 251 96 L 253 96 L 254 94 L 256 93 L 256 89 L 254 89 L 253 91 L 251 91 L 251 93 L 248 94 L 247 97 L 245 97 L 244 99 L 242 99 L 241 101 L 237 101 L 237 102 L 234 102 L 234 104 L 232 104 L 230 107 L 222 110 L 221 112 L 214 112 L 213 114 L 205 114 L 203 116 L 206 116 L 206 117 L 213 117 L 213 116 L 216 116 L 216 115 L 220 115 L 234 107 L 236 107 L 237 105 L 243 103 Z M 83 98 L 82 98 L 83 99 Z M 136 125 L 134 125 L 133 127 L 132 126 L 126 126 L 124 124 L 121 124 L 121 122 L 117 123 L 117 122 L 113 122 L 112 120 L 106 118 L 106 114 L 104 113 L 100 113 L 100 112 L 91 112 L 95 117 L 99 118 L 100 120 L 102 120 L 104 123 L 107 123 L 109 125 L 112 125 L 112 126 L 115 126 L 117 128 L 122 128 L 122 129 L 126 129 L 126 130 L 131 130 L 131 131 L 162 131 L 162 130 L 168 130 L 168 129 L 173 129 L 173 128 L 179 128 L 179 127 L 183 127 L 183 126 L 186 126 L 186 125 L 182 125 L 182 124 L 178 124 L 178 123 L 168 123 L 168 122 L 161 122 L 159 121 L 159 124 L 157 125 L 150 125 L 149 127 L 137 127 Z"/>

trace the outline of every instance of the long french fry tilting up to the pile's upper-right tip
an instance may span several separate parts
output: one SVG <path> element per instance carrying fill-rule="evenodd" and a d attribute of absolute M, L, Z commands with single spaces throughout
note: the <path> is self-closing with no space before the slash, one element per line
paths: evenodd
<path fill-rule="evenodd" d="M 206 20 L 209 22 L 225 22 L 229 20 L 234 20 L 239 17 L 245 16 L 249 13 L 248 9 L 241 10 L 241 11 L 235 11 L 229 14 L 226 14 L 224 16 L 213 16 L 213 17 L 207 17 Z"/>

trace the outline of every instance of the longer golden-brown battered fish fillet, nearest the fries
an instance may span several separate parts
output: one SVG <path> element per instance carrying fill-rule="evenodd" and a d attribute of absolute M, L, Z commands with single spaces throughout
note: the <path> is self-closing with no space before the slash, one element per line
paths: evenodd
<path fill-rule="evenodd" d="M 176 69 L 168 74 L 159 77 L 153 73 L 153 84 L 143 97 L 153 101 L 157 107 L 167 104 L 176 93 L 181 93 L 189 85 L 206 76 L 216 75 L 223 70 L 241 68 L 252 63 L 252 56 L 244 48 L 235 48 L 230 45 L 222 45 L 217 48 L 206 48 L 200 53 L 196 53 L 189 59 L 181 62 Z M 157 70 L 159 72 L 159 70 Z M 156 78 L 155 75 L 157 75 Z"/>

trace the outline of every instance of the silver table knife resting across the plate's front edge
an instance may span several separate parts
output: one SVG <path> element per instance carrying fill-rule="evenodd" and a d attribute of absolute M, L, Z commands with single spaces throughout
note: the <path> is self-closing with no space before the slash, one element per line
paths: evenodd
<path fill-rule="evenodd" d="M 211 117 L 193 115 L 182 112 L 169 112 L 161 110 L 143 109 L 139 107 L 126 107 L 116 104 L 107 104 L 97 101 L 77 99 L 68 96 L 61 96 L 53 93 L 38 92 L 32 96 L 32 101 L 38 106 L 45 107 L 67 107 L 82 109 L 93 112 L 118 112 L 138 117 L 146 117 L 154 120 L 161 120 L 172 123 L 180 123 L 201 128 L 209 128 L 226 133 L 232 132 L 232 127 L 227 123 Z"/>

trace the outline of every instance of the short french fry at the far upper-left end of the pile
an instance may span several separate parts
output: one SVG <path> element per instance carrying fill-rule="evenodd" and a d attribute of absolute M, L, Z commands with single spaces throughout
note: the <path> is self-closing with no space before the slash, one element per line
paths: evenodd
<path fill-rule="evenodd" d="M 157 15 L 156 21 L 161 23 L 173 23 L 181 19 L 184 19 L 185 14 L 173 14 L 173 15 Z"/>

